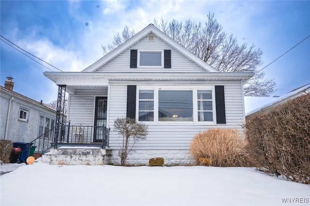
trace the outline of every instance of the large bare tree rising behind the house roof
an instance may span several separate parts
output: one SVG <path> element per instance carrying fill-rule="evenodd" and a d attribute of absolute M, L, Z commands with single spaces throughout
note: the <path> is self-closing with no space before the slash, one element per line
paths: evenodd
<path fill-rule="evenodd" d="M 209 13 L 204 24 L 197 24 L 190 19 L 184 24 L 176 19 L 167 22 L 161 18 L 160 21 L 154 19 L 154 25 L 219 72 L 254 73 L 254 77 L 244 85 L 246 96 L 269 96 L 276 90 L 274 79 L 264 79 L 265 73 L 257 69 L 263 64 L 263 51 L 254 44 L 238 44 L 233 34 L 227 35 L 223 31 L 214 14 Z M 111 44 L 102 45 L 104 55 L 135 33 L 126 25 L 122 35 L 117 33 Z"/>

